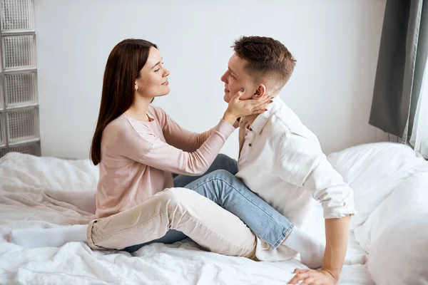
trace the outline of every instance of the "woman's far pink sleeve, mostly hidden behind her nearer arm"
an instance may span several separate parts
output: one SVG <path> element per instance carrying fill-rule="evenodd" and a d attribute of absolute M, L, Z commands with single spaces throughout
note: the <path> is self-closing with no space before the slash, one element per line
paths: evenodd
<path fill-rule="evenodd" d="M 193 133 L 185 128 L 181 128 L 178 123 L 170 118 L 169 115 L 165 113 L 162 109 L 159 110 L 163 112 L 163 136 L 165 137 L 166 142 L 173 147 L 177 147 L 180 150 L 185 150 L 186 152 L 194 152 L 207 140 L 210 135 L 213 134 L 215 128 L 205 131 L 204 133 Z"/>

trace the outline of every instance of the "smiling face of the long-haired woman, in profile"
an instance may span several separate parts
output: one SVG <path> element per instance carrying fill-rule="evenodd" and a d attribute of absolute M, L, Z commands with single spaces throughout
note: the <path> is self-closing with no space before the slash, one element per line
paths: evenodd
<path fill-rule="evenodd" d="M 163 66 L 162 56 L 153 46 L 148 54 L 147 62 L 141 68 L 140 77 L 136 79 L 134 90 L 136 95 L 153 98 L 167 95 L 169 71 Z"/>

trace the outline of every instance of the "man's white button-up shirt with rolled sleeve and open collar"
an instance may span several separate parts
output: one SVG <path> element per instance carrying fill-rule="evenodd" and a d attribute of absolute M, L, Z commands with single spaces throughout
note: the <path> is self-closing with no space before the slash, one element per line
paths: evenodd
<path fill-rule="evenodd" d="M 236 176 L 295 226 L 305 228 L 316 201 L 325 219 L 355 214 L 352 189 L 330 165 L 315 134 L 279 95 L 251 125 L 246 118 L 239 125 Z M 260 260 L 285 260 L 295 254 L 283 245 L 272 249 L 258 239 Z"/>

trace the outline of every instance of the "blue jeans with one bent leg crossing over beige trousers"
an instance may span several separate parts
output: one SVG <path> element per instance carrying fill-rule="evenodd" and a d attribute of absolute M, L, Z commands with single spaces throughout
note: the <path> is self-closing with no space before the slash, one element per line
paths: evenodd
<path fill-rule="evenodd" d="M 207 197 L 229 212 L 239 217 L 260 239 L 277 248 L 292 231 L 293 224 L 273 209 L 263 199 L 248 189 L 235 174 L 238 172 L 236 160 L 227 155 L 218 155 L 203 176 L 179 175 L 174 179 L 174 187 L 184 187 Z M 146 244 L 162 242 L 172 244 L 185 239 L 182 232 L 170 229 L 161 239 L 126 247 L 126 252 L 136 252 Z"/>

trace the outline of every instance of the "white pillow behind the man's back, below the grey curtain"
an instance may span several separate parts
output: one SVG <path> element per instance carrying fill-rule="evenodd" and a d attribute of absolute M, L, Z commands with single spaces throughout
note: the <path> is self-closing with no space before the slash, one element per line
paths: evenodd
<path fill-rule="evenodd" d="M 377 142 L 332 153 L 328 160 L 354 190 L 357 214 L 350 229 L 356 229 L 400 181 L 414 173 L 414 163 L 421 158 L 407 145 Z"/>

